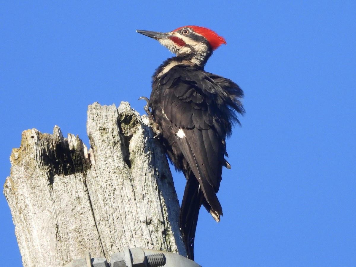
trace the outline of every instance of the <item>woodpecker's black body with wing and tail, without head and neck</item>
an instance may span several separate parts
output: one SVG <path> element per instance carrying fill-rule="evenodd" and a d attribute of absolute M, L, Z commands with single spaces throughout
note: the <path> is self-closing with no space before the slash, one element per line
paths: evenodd
<path fill-rule="evenodd" d="M 229 79 L 188 65 L 178 65 L 153 79 L 152 114 L 162 129 L 167 153 L 187 184 L 180 211 L 180 227 L 190 259 L 201 204 L 219 221 L 223 214 L 216 193 L 225 161 L 225 138 L 235 111 L 244 113 L 242 90 Z"/>

